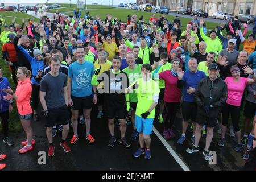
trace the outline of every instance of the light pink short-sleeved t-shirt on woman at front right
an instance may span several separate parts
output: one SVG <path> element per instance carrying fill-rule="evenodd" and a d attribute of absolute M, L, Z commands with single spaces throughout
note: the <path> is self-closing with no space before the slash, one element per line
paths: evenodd
<path fill-rule="evenodd" d="M 233 106 L 240 106 L 242 101 L 243 92 L 245 91 L 248 78 L 240 77 L 238 82 L 234 81 L 233 77 L 225 79 L 228 85 L 228 99 L 226 103 Z"/>

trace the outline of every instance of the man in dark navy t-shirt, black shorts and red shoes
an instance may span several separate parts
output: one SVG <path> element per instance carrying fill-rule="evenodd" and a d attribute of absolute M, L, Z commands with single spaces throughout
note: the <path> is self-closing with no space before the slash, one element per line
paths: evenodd
<path fill-rule="evenodd" d="M 61 60 L 53 56 L 49 60 L 51 71 L 42 78 L 40 85 L 40 101 L 43 114 L 46 117 L 46 135 L 49 142 L 48 156 L 55 154 L 52 140 L 52 127 L 55 123 L 63 125 L 60 146 L 65 152 L 70 152 L 66 142 L 69 131 L 67 76 L 59 72 Z"/>

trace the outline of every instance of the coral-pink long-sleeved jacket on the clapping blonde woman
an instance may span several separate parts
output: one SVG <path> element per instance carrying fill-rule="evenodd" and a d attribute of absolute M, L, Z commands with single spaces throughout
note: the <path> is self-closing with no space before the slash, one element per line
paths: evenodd
<path fill-rule="evenodd" d="M 27 78 L 25 81 L 19 81 L 16 89 L 16 96 L 18 97 L 17 109 L 20 115 L 27 115 L 32 113 L 32 108 L 30 106 L 32 86 L 30 78 Z"/>

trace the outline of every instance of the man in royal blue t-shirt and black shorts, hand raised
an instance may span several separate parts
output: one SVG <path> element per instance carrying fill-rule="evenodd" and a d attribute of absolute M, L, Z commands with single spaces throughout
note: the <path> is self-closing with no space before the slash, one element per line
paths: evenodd
<path fill-rule="evenodd" d="M 196 86 L 199 84 L 200 80 L 206 77 L 205 73 L 197 70 L 197 60 L 195 58 L 191 58 L 188 61 L 189 70 L 185 73 L 181 71 L 177 71 L 178 73 L 178 82 L 177 86 L 181 88 L 183 86 L 183 101 L 182 101 L 182 114 L 183 114 L 183 122 L 182 122 L 182 135 L 180 139 L 177 141 L 178 144 L 183 144 L 185 141 L 185 133 L 188 127 L 188 120 L 191 119 L 193 125 L 195 125 L 196 121 L 196 102 L 194 101 L 193 92 L 196 90 Z M 193 135 L 191 138 L 192 142 L 195 143 L 195 127 L 193 129 Z"/>

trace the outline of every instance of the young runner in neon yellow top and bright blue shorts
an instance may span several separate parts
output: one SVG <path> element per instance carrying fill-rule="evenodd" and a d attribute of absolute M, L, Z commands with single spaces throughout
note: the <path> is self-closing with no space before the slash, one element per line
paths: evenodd
<path fill-rule="evenodd" d="M 159 86 L 151 78 L 152 67 L 150 64 L 143 64 L 141 68 L 142 78 L 139 78 L 127 88 L 126 93 L 135 89 L 137 91 L 138 104 L 136 109 L 135 127 L 139 133 L 139 147 L 133 156 L 138 158 L 145 154 L 145 159 L 151 158 L 151 138 L 153 121 L 155 118 L 155 107 L 158 104 Z M 144 147 L 146 144 L 146 148 Z"/>

